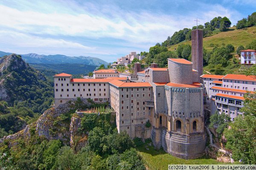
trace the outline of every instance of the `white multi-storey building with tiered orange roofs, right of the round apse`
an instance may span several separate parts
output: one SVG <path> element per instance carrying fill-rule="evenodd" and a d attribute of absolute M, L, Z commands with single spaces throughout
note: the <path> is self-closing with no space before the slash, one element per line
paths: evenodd
<path fill-rule="evenodd" d="M 240 108 L 244 106 L 244 94 L 256 90 L 256 77 L 241 74 L 201 76 L 207 92 L 205 109 L 211 114 L 217 110 L 226 113 L 233 121 L 242 114 Z"/>

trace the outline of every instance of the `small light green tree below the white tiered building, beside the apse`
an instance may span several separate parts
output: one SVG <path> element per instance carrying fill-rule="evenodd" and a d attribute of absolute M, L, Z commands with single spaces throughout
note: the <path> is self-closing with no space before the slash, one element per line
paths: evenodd
<path fill-rule="evenodd" d="M 228 122 L 230 122 L 230 116 L 229 115 L 227 115 L 225 113 L 219 114 L 218 111 L 216 111 L 210 117 L 209 128 L 216 128 L 218 138 L 220 138 L 223 134 L 224 129 L 226 127 L 228 127 Z"/>

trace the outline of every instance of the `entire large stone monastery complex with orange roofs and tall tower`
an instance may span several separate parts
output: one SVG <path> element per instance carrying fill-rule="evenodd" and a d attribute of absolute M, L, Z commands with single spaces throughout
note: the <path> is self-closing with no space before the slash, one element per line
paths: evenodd
<path fill-rule="evenodd" d="M 205 113 L 229 114 L 233 120 L 242 114 L 244 94 L 256 90 L 256 79 L 245 75 L 202 75 L 201 30 L 192 30 L 192 62 L 168 59 L 168 68 L 141 70 L 134 63 L 134 74 L 116 70 L 94 71 L 93 79 L 73 79 L 57 74 L 55 107 L 77 97 L 109 102 L 116 113 L 118 132 L 131 138 L 151 138 L 156 148 L 173 156 L 195 159 L 205 152 Z M 135 54 L 134 54 L 135 55 Z M 146 127 L 146 122 L 151 127 Z"/>

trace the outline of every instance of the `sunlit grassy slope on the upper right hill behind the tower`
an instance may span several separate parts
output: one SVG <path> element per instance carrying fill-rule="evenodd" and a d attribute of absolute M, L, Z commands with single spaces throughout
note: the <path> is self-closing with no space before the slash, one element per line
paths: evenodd
<path fill-rule="evenodd" d="M 218 31 L 214 31 L 214 35 L 212 35 L 211 37 L 204 38 L 204 48 L 206 48 L 207 50 L 213 48 L 210 44 L 221 45 L 222 43 L 224 43 L 225 45 L 232 44 L 235 49 L 239 45 L 243 45 L 245 47 L 252 40 L 256 39 L 256 26 L 244 28 L 242 30 L 236 30 L 235 27 L 231 27 L 230 31 L 218 32 L 218 34 L 216 34 L 216 32 Z M 168 48 L 169 51 L 174 51 L 175 48 L 177 49 L 178 45 L 180 44 L 191 45 L 191 41 L 180 42 L 178 44 L 171 45 Z"/>

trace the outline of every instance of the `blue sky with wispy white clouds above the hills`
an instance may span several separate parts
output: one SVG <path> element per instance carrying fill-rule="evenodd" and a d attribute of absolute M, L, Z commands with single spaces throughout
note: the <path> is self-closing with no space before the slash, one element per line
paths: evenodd
<path fill-rule="evenodd" d="M 0 0 L 0 51 L 98 57 L 148 51 L 175 31 L 228 17 L 233 25 L 256 0 Z"/>

